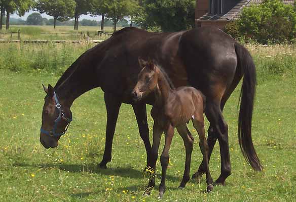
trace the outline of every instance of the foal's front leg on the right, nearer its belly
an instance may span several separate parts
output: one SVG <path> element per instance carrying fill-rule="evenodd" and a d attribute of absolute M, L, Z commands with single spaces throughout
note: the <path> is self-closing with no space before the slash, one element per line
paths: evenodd
<path fill-rule="evenodd" d="M 164 149 L 162 151 L 160 157 L 160 163 L 162 168 L 162 176 L 161 176 L 161 183 L 159 186 L 159 197 L 161 198 L 166 190 L 165 186 L 165 179 L 166 179 L 166 171 L 169 164 L 169 150 L 172 142 L 172 138 L 174 136 L 174 127 L 172 125 L 168 126 L 168 129 L 165 131 L 165 144 Z"/>

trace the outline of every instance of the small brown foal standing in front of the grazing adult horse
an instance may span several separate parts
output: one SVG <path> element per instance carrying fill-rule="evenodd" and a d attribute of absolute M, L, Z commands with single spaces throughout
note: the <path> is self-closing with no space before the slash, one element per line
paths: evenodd
<path fill-rule="evenodd" d="M 155 172 L 156 161 L 158 158 L 158 148 L 161 135 L 165 133 L 165 145 L 160 157 L 162 167 L 162 179 L 159 186 L 159 197 L 165 192 L 166 170 L 169 163 L 169 148 L 174 135 L 174 128 L 183 139 L 186 147 L 186 161 L 183 179 L 179 188 L 183 188 L 190 179 L 191 153 L 193 149 L 193 136 L 187 129 L 186 123 L 193 122 L 194 128 L 199 135 L 199 146 L 206 161 L 206 182 L 207 191 L 213 189 L 212 177 L 208 167 L 208 144 L 204 131 L 204 95 L 193 87 L 179 87 L 174 89 L 167 75 L 162 69 L 157 67 L 153 61 L 144 61 L 138 58 L 139 65 L 142 67 L 138 75 L 138 82 L 132 91 L 134 100 L 138 101 L 151 92 L 155 92 L 156 100 L 151 110 L 154 119 L 153 125 L 153 145 L 150 167 Z M 155 186 L 155 176 L 149 181 L 149 187 Z M 150 191 L 147 192 L 150 194 Z"/>

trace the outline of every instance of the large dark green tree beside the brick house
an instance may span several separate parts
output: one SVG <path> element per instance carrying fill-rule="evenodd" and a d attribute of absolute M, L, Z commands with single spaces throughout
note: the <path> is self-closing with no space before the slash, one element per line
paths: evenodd
<path fill-rule="evenodd" d="M 195 0 L 143 0 L 135 22 L 146 29 L 160 28 L 164 32 L 194 27 Z"/>

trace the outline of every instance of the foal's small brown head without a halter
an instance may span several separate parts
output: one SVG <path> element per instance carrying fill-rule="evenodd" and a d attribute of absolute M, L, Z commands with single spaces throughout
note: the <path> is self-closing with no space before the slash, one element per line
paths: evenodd
<path fill-rule="evenodd" d="M 132 97 L 135 101 L 139 101 L 150 94 L 157 87 L 158 74 L 154 62 L 138 58 L 140 67 L 142 68 L 138 74 L 137 84 L 132 90 Z"/>

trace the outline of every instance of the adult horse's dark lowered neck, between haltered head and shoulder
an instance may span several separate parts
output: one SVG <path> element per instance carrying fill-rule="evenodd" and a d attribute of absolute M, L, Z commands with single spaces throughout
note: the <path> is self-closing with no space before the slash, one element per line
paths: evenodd
<path fill-rule="evenodd" d="M 77 97 L 99 86 L 95 72 L 95 64 L 99 61 L 94 63 L 89 57 L 86 54 L 73 63 L 54 87 L 61 103 L 68 107 Z"/>

